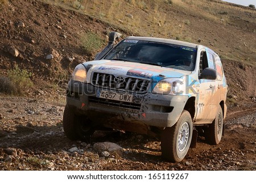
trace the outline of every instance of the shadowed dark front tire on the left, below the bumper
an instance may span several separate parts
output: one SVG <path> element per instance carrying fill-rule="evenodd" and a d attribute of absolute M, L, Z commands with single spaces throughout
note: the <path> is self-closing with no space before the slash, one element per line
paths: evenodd
<path fill-rule="evenodd" d="M 72 141 L 80 139 L 88 142 L 94 133 L 90 120 L 85 116 L 76 115 L 67 105 L 63 115 L 63 128 L 65 135 Z"/>

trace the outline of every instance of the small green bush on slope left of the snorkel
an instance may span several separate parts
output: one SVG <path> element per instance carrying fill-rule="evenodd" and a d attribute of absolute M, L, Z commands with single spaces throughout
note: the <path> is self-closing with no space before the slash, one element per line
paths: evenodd
<path fill-rule="evenodd" d="M 104 43 L 101 37 L 93 32 L 84 33 L 81 37 L 81 42 L 86 54 L 89 54 L 89 56 L 96 53 L 96 50 L 100 49 Z"/>

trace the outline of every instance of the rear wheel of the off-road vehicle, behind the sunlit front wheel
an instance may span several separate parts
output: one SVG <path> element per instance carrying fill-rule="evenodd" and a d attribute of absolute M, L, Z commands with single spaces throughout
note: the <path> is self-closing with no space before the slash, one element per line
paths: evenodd
<path fill-rule="evenodd" d="M 205 129 L 205 141 L 211 145 L 220 143 L 223 132 L 223 112 L 220 105 L 218 105 L 218 112 L 212 124 Z"/>

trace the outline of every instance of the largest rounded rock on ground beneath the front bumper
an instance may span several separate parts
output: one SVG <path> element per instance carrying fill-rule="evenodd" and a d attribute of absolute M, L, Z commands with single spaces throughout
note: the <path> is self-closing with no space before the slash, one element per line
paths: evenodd
<path fill-rule="evenodd" d="M 99 142 L 93 145 L 93 149 L 98 153 L 108 151 L 110 154 L 123 154 L 123 148 L 112 142 Z"/>

